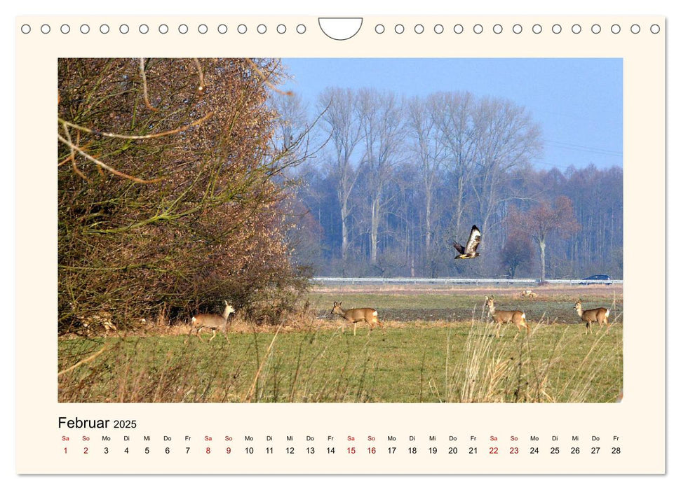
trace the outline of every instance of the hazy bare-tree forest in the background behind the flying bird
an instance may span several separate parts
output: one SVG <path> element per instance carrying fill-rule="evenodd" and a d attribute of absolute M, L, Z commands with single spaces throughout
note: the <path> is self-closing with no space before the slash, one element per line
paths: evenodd
<path fill-rule="evenodd" d="M 328 88 L 313 110 L 297 94 L 274 109 L 297 148 L 290 256 L 311 274 L 622 277 L 622 168 L 537 169 L 541 127 L 508 99 Z M 472 225 L 480 258 L 454 260 Z"/>

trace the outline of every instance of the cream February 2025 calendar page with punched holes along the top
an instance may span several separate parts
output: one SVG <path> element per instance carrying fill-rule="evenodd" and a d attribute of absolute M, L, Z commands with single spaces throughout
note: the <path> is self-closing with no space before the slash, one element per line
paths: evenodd
<path fill-rule="evenodd" d="M 666 471 L 664 18 L 15 21 L 18 473 Z"/>

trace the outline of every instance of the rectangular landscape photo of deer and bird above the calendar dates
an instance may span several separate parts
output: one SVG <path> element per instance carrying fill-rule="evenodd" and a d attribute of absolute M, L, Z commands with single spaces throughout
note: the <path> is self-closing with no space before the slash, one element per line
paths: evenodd
<path fill-rule="evenodd" d="M 58 401 L 623 397 L 619 58 L 61 58 Z"/>

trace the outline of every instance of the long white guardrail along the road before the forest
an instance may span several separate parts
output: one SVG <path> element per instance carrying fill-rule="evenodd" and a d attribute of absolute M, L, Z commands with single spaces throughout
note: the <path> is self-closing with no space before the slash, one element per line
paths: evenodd
<path fill-rule="evenodd" d="M 539 279 L 462 279 L 459 277 L 442 277 L 429 279 L 427 277 L 313 277 L 315 283 L 382 283 L 382 284 L 534 284 L 537 286 Z M 621 284 L 622 279 L 607 279 L 588 281 L 584 279 L 546 279 L 549 284 Z"/>

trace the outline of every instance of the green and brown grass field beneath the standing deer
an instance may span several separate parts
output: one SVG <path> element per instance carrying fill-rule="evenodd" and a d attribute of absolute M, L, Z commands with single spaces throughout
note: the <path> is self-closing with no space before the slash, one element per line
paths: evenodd
<path fill-rule="evenodd" d="M 282 325 L 230 320 L 229 342 L 157 325 L 109 337 L 62 337 L 61 402 L 614 402 L 622 385 L 621 286 L 538 288 L 317 287 L 307 315 Z M 522 309 L 528 337 L 487 323 Z M 593 335 L 572 309 L 612 309 L 609 333 Z M 334 301 L 374 307 L 386 327 L 357 335 L 331 316 Z M 210 338 L 207 333 L 204 339 Z"/>

